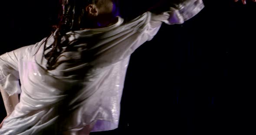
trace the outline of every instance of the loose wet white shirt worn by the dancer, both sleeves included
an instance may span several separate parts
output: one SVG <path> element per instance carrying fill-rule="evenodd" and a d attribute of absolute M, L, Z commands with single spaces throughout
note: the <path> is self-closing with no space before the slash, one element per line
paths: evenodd
<path fill-rule="evenodd" d="M 130 55 L 157 34 L 162 22 L 184 23 L 202 8 L 201 0 L 189 0 L 159 15 L 147 12 L 128 23 L 118 17 L 106 28 L 68 32 L 69 41 L 84 42 L 61 60 L 85 61 L 66 62 L 53 71 L 46 70 L 45 39 L 1 55 L 0 85 L 9 95 L 21 95 L 0 135 L 39 135 L 46 129 L 76 135 L 94 121 L 93 131 L 116 129 Z M 50 37 L 46 47 L 52 42 Z"/>

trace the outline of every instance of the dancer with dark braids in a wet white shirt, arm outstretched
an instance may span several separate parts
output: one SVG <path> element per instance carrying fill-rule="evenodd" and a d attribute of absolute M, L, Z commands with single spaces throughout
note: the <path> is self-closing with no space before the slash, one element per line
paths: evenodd
<path fill-rule="evenodd" d="M 125 22 L 115 0 L 63 0 L 51 36 L 0 56 L 1 93 L 9 115 L 0 135 L 89 135 L 116 129 L 131 53 L 151 40 L 162 22 L 184 23 L 203 8 L 202 0 L 176 1 L 167 12 L 146 12 Z"/>

